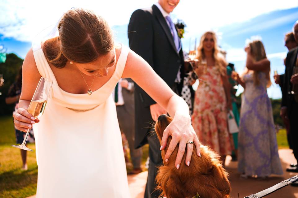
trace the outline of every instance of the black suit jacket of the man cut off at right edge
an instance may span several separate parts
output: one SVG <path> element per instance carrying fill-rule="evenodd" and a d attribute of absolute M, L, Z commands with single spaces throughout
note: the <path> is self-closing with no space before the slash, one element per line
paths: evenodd
<path fill-rule="evenodd" d="M 296 102 L 293 95 L 289 93 L 292 91 L 292 87 L 293 87 L 293 84 L 290 82 L 290 79 L 293 74 L 293 68 L 296 64 L 297 53 L 298 53 L 298 47 L 293 48 L 288 52 L 287 58 L 286 58 L 286 70 L 283 76 L 282 106 L 287 107 L 288 114 L 290 114 L 290 112 L 293 110 L 292 109 L 293 102 Z"/>

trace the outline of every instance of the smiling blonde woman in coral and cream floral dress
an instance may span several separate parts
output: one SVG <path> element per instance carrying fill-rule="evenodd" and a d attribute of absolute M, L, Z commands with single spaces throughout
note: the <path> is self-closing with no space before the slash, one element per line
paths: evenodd
<path fill-rule="evenodd" d="M 231 108 L 227 62 L 219 53 L 216 35 L 205 32 L 197 48 L 196 73 L 201 82 L 195 93 L 192 125 L 202 144 L 209 145 L 222 156 L 231 154 L 232 146 L 227 126 L 227 107 Z"/>

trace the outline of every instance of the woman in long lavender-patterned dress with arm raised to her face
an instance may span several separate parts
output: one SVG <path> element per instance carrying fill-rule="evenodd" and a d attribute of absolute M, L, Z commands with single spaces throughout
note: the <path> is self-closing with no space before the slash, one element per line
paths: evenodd
<path fill-rule="evenodd" d="M 242 78 L 233 74 L 244 88 L 242 95 L 238 170 L 242 178 L 266 178 L 282 174 L 278 156 L 272 106 L 267 95 L 270 82 L 270 61 L 261 41 L 252 41 L 245 47 L 246 68 Z"/>

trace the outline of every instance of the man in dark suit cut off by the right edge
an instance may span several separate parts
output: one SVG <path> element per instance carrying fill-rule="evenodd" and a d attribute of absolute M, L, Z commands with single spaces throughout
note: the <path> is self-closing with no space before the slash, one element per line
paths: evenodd
<path fill-rule="evenodd" d="M 294 24 L 293 33 L 298 41 L 298 21 Z M 298 161 L 298 47 L 291 49 L 286 58 L 286 71 L 283 77 L 281 116 L 290 120 L 290 134 L 293 153 Z M 297 164 L 292 164 L 287 171 L 298 172 Z"/>

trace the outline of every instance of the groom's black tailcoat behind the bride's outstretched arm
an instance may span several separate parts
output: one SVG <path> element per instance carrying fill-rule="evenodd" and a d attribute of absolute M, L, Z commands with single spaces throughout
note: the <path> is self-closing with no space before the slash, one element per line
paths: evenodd
<path fill-rule="evenodd" d="M 174 86 L 179 67 L 183 64 L 182 49 L 177 52 L 173 36 L 164 16 L 156 5 L 133 12 L 128 25 L 129 47 L 144 58 L 169 85 Z M 183 77 L 183 67 L 181 67 Z M 146 78 L 146 76 L 144 76 Z M 181 93 L 183 78 L 178 86 Z M 156 87 L 158 89 L 158 87 Z M 135 148 L 147 144 L 148 127 L 152 127 L 150 105 L 156 102 L 135 84 Z"/>

